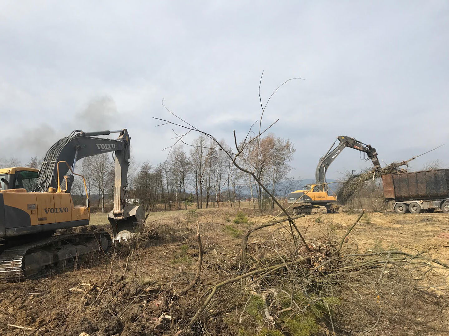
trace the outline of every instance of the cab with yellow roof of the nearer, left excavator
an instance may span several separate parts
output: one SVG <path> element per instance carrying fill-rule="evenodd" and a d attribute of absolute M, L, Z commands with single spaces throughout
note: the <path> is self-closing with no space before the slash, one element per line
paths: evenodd
<path fill-rule="evenodd" d="M 1 190 L 25 189 L 31 192 L 37 186 L 39 169 L 13 167 L 0 169 Z"/>

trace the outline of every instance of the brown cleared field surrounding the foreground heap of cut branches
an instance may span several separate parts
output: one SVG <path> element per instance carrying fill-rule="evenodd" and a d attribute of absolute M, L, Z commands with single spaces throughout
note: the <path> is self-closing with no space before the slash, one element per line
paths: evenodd
<path fill-rule="evenodd" d="M 188 321 L 198 309 L 198 298 L 202 297 L 198 293 L 233 272 L 232 265 L 236 264 L 241 251 L 242 234 L 277 214 L 274 211 L 271 215 L 255 215 L 250 209 L 244 212 L 247 223 L 245 220 L 235 223 L 237 210 L 230 208 L 154 213 L 147 220 L 150 228 L 147 241 L 118 245 L 114 255 L 97 256 L 95 261 L 77 266 L 75 270 L 23 282 L 3 281 L 0 283 L 0 334 L 173 335 L 170 327 L 176 326 L 175 319 L 180 324 Z M 310 215 L 297 219 L 296 225 L 306 241 L 318 244 L 324 238 L 339 241 L 358 217 L 357 213 Z M 167 303 L 161 293 L 179 293 L 194 278 L 199 257 L 197 222 L 204 247 L 200 281 L 190 292 L 191 297 L 183 294 L 176 303 L 168 300 L 168 305 L 164 306 Z M 107 228 L 106 223 L 106 215 L 92 215 L 92 228 Z M 286 223 L 256 231 L 248 241 L 253 255 L 262 256 L 270 241 L 276 241 L 279 250 L 288 249 L 288 233 Z M 449 216 L 441 213 L 366 213 L 348 235 L 342 253 L 390 250 L 410 254 L 423 252 L 427 258 L 448 263 Z M 387 287 L 395 286 L 394 282 L 385 284 L 384 288 L 378 284 L 370 287 L 365 280 L 358 287 L 356 283 L 353 287 L 349 284 L 335 287 L 334 296 L 339 304 L 334 308 L 332 327 L 320 320 L 317 327 L 303 327 L 302 333 L 286 335 L 330 335 L 332 332 L 342 335 L 448 335 L 447 271 L 441 267 L 436 273 L 440 276 L 439 285 L 429 285 L 431 288 L 424 296 L 418 287 L 401 289 L 400 283 L 396 287 Z M 422 282 L 418 284 L 425 287 Z M 236 286 L 243 284 L 236 283 Z M 354 299 L 359 296 L 360 299 Z M 220 297 L 220 300 L 225 298 Z M 243 312 L 249 311 L 252 304 L 250 298 L 247 300 Z M 357 308 L 361 302 L 370 300 L 372 304 Z M 210 312 L 213 310 L 211 308 Z M 351 310 L 353 313 L 348 313 Z M 245 324 L 243 312 L 236 318 L 241 324 L 237 325 L 229 322 L 232 319 L 230 311 L 223 313 L 225 317 L 211 313 L 210 329 L 201 332 L 194 329 L 193 335 L 283 335 L 265 332 L 268 327 L 261 327 L 259 333 L 250 332 L 245 329 L 250 324 Z M 248 314 L 253 316 L 251 311 Z M 258 324 L 254 325 L 257 328 Z"/>

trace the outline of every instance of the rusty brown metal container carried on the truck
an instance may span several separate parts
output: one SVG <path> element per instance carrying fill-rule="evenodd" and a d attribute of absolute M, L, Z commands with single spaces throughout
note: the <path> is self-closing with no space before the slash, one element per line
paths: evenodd
<path fill-rule="evenodd" d="M 387 199 L 409 200 L 449 197 L 449 169 L 405 172 L 382 176 Z"/>

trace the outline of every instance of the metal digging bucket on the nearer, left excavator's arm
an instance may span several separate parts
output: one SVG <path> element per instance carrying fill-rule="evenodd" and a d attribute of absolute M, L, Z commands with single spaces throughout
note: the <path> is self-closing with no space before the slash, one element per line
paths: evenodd
<path fill-rule="evenodd" d="M 114 214 L 112 210 L 108 214 L 108 220 L 114 233 L 113 241 L 128 240 L 138 237 L 143 232 L 145 210 L 141 206 L 125 206 L 120 214 Z"/>

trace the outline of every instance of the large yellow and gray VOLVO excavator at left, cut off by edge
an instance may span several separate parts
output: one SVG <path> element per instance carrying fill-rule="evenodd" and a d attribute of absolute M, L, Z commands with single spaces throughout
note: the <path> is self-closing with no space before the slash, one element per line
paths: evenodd
<path fill-rule="evenodd" d="M 98 137 L 113 133 L 119 133 L 119 137 Z M 55 235 L 58 229 L 89 224 L 86 181 L 75 173 L 76 162 L 88 156 L 114 155 L 114 208 L 108 214 L 114 241 L 141 233 L 145 211 L 141 206 L 127 205 L 129 150 L 127 129 L 75 130 L 47 151 L 39 170 L 0 169 L 0 278 L 32 278 L 110 249 L 113 239 L 104 231 Z M 84 206 L 75 206 L 70 194 L 75 176 L 83 180 Z"/>

